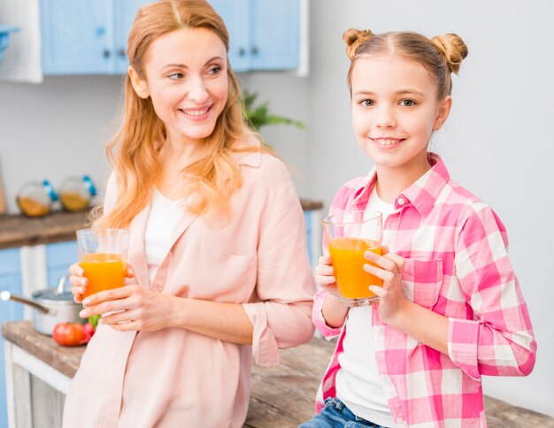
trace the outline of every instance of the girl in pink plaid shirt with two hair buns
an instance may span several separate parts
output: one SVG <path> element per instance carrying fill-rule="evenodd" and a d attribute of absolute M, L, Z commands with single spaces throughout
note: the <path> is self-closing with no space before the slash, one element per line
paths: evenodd
<path fill-rule="evenodd" d="M 389 251 L 365 253 L 377 264 L 365 271 L 383 279 L 370 287 L 380 301 L 350 310 L 330 257 L 320 257 L 312 317 L 339 339 L 319 415 L 301 426 L 486 426 L 481 375 L 527 375 L 536 343 L 504 225 L 427 152 L 466 44 L 354 29 L 343 39 L 354 134 L 375 168 L 346 183 L 329 214 L 380 210 Z"/>

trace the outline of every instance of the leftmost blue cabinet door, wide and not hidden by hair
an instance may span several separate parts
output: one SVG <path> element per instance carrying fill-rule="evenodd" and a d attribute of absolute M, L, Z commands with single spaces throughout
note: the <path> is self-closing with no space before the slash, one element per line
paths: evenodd
<path fill-rule="evenodd" d="M 42 0 L 42 72 L 99 74 L 113 68 L 109 0 Z"/>

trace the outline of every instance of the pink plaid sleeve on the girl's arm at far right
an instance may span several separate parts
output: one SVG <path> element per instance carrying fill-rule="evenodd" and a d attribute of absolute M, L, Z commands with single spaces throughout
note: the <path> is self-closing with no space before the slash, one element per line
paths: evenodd
<path fill-rule="evenodd" d="M 450 359 L 472 378 L 526 376 L 536 341 L 508 257 L 504 225 L 484 203 L 466 210 L 458 230 L 456 274 L 474 319 L 449 319 Z"/>

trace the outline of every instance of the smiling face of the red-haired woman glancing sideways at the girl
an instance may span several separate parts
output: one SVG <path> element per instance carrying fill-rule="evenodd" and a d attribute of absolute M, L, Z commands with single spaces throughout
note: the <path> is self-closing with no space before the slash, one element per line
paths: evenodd
<path fill-rule="evenodd" d="M 227 51 L 218 35 L 205 28 L 161 35 L 150 44 L 145 74 L 129 67 L 137 95 L 150 96 L 168 139 L 198 142 L 212 134 L 227 103 Z"/>

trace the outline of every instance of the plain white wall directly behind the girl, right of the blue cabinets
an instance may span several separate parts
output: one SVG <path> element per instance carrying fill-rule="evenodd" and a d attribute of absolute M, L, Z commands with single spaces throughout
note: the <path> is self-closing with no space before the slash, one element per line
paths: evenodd
<path fill-rule="evenodd" d="M 349 27 L 381 33 L 457 33 L 469 56 L 454 82 L 453 111 L 434 149 L 451 176 L 492 205 L 506 225 L 538 355 L 527 378 L 484 378 L 487 394 L 554 416 L 554 4 L 548 0 L 313 0 L 308 103 L 313 197 L 330 202 L 371 164 L 350 131 L 341 41 Z"/>

